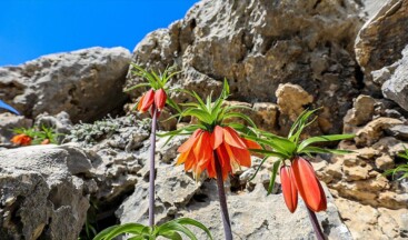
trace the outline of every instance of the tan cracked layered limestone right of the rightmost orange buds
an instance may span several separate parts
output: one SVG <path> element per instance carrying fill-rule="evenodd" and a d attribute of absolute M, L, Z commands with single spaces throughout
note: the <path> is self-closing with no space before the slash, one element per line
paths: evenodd
<path fill-rule="evenodd" d="M 354 153 L 337 156 L 319 170 L 336 194 L 374 208 L 406 209 L 408 193 L 381 173 L 392 168 L 395 156 L 404 149 L 399 141 L 381 139 L 370 148 L 354 149 Z M 342 214 L 342 212 L 340 211 Z"/>

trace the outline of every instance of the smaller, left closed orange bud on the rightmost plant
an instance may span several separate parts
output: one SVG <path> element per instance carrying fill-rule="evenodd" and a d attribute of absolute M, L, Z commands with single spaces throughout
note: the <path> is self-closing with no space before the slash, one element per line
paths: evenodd
<path fill-rule="evenodd" d="M 282 166 L 280 168 L 280 183 L 282 186 L 285 203 L 289 211 L 293 213 L 298 207 L 298 189 L 296 188 L 291 167 Z"/>

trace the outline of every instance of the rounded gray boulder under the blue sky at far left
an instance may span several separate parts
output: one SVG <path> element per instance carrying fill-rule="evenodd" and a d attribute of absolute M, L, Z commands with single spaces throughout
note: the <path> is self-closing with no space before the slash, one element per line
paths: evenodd
<path fill-rule="evenodd" d="M 90 48 L 3 67 L 0 99 L 27 117 L 67 111 L 74 122 L 96 120 L 122 108 L 130 58 L 123 48 Z"/>

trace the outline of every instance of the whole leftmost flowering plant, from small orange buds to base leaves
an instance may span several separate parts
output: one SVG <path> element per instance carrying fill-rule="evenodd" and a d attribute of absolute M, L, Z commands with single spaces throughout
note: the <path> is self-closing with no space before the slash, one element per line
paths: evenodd
<path fill-rule="evenodd" d="M 155 240 L 158 237 L 163 237 L 172 240 L 182 240 L 180 233 L 186 234 L 191 240 L 197 240 L 197 237 L 186 226 L 193 226 L 203 230 L 209 239 L 212 240 L 211 233 L 206 226 L 189 218 L 175 219 L 165 222 L 160 226 L 155 224 L 155 179 L 156 179 L 156 167 L 155 167 L 155 149 L 156 149 L 156 128 L 158 118 L 163 110 L 166 103 L 170 107 L 178 109 L 178 106 L 170 99 L 167 98 L 168 81 L 177 72 L 171 72 L 171 69 L 166 69 L 163 73 L 157 74 L 155 71 L 147 71 L 138 66 L 132 64 L 133 74 L 139 76 L 147 80 L 147 82 L 133 86 L 126 91 L 135 90 L 138 88 L 150 88 L 142 94 L 137 109 L 140 113 L 150 111 L 151 130 L 150 130 L 150 154 L 149 154 L 149 226 L 140 223 L 125 223 L 119 226 L 112 226 L 105 229 L 97 234 L 93 240 L 111 240 L 121 234 L 130 234 L 129 240 Z"/>

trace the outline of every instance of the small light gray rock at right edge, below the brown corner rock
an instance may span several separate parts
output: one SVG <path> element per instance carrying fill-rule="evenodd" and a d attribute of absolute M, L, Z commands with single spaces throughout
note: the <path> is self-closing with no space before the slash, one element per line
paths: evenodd
<path fill-rule="evenodd" d="M 394 69 L 392 74 L 381 87 L 382 94 L 384 97 L 397 102 L 401 108 L 408 111 L 408 38 L 407 46 L 402 51 L 402 58 L 395 62 L 391 68 Z"/>

